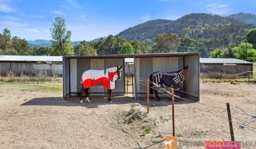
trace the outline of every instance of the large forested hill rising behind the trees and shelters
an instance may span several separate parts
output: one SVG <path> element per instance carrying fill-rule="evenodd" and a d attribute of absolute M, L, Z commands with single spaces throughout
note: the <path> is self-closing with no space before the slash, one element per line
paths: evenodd
<path fill-rule="evenodd" d="M 206 13 L 191 13 L 182 16 L 178 20 L 152 20 L 146 23 L 130 27 L 120 32 L 117 36 L 125 37 L 126 40 L 154 39 L 157 34 L 175 33 L 179 37 L 188 36 L 199 38 L 226 38 L 230 42 L 233 38 L 242 38 L 248 29 L 253 28 L 251 24 L 243 23 L 234 18 Z"/>

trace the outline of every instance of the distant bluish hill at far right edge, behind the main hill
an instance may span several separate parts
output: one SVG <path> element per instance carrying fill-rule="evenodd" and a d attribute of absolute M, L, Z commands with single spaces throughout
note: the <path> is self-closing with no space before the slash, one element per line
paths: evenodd
<path fill-rule="evenodd" d="M 238 13 L 234 15 L 230 15 L 230 18 L 234 18 L 236 20 L 242 21 L 247 24 L 253 24 L 256 26 L 256 15 L 251 13 Z"/>

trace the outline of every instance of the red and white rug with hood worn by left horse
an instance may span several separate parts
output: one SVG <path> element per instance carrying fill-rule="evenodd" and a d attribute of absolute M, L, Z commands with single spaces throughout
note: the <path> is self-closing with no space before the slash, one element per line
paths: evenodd
<path fill-rule="evenodd" d="M 117 80 L 117 67 L 106 70 L 87 70 L 84 71 L 81 78 L 81 84 L 84 89 L 92 86 L 103 85 L 106 89 L 115 89 Z"/>

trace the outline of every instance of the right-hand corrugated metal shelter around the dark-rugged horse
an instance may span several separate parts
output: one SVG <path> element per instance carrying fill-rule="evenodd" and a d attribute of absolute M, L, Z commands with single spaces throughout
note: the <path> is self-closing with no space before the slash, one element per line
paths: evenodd
<path fill-rule="evenodd" d="M 177 71 L 188 65 L 188 78 L 181 84 L 181 91 L 195 95 L 185 96 L 199 101 L 199 57 L 199 53 L 137 54 L 134 60 L 136 96 L 145 96 L 147 86 L 141 82 L 145 84 L 145 80 L 149 79 L 153 72 Z"/>

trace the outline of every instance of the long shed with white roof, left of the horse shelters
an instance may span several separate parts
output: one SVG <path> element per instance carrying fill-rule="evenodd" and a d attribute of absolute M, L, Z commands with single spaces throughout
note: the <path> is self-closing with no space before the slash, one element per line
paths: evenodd
<path fill-rule="evenodd" d="M 0 74 L 37 74 L 44 70 L 62 74 L 62 56 L 0 56 Z"/>

